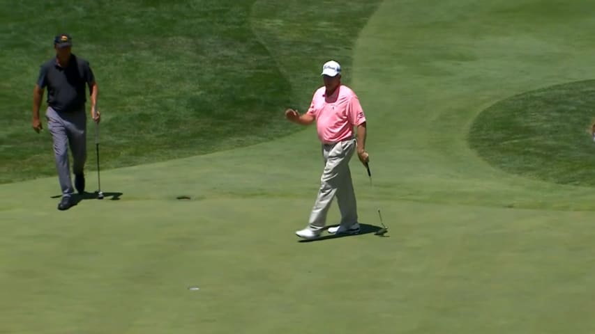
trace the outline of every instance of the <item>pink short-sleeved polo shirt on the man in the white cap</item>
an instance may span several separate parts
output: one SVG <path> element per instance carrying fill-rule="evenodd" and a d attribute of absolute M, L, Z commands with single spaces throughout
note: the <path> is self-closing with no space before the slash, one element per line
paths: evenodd
<path fill-rule="evenodd" d="M 337 143 L 353 138 L 353 128 L 366 122 L 357 95 L 344 85 L 330 96 L 326 96 L 324 86 L 318 88 L 307 113 L 314 116 L 318 138 L 322 143 Z"/>

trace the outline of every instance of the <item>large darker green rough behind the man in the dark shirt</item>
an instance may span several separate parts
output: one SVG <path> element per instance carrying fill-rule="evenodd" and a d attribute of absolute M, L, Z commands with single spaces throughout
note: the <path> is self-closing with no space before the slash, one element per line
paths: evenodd
<path fill-rule="evenodd" d="M 0 18 L 9 23 L 0 45 L 10 53 L 0 56 L 0 71 L 8 77 L 0 83 L 0 183 L 56 173 L 45 122 L 45 132 L 31 136 L 31 104 L 39 67 L 55 54 L 57 33 L 73 35 L 73 53 L 93 68 L 103 112 L 103 168 L 115 168 L 296 132 L 283 111 L 310 103 L 329 58 L 350 65 L 354 36 L 377 2 L 1 1 Z M 64 8 L 68 18 L 57 20 Z M 341 19 L 328 22 L 320 11 Z M 32 19 L 31 12 L 43 16 Z M 287 64 L 280 66 L 279 59 Z M 44 121 L 45 97 L 47 92 Z"/>

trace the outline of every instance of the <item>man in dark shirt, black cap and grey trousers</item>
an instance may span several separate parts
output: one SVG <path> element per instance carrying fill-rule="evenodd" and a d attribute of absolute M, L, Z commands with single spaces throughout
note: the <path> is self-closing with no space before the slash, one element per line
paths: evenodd
<path fill-rule="evenodd" d="M 99 122 L 96 111 L 98 88 L 89 62 L 71 53 L 72 38 L 68 34 L 54 38 L 56 57 L 41 66 L 37 84 L 33 89 L 33 129 L 37 133 L 43 128 L 39 109 L 47 87 L 47 125 L 54 141 L 56 168 L 62 189 L 58 209 L 66 210 L 74 203 L 70 179 L 68 146 L 73 154 L 75 187 L 84 192 L 84 164 L 86 161 L 86 86 L 91 95 L 91 118 Z"/>

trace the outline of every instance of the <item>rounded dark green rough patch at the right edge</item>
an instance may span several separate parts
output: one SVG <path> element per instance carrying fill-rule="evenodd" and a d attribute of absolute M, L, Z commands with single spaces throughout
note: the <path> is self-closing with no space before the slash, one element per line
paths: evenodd
<path fill-rule="evenodd" d="M 558 184 L 595 186 L 595 80 L 529 91 L 482 111 L 469 144 L 509 173 Z"/>

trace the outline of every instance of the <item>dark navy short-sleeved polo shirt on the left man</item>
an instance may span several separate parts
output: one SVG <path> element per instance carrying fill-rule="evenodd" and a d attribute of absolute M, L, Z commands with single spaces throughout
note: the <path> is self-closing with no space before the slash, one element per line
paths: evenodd
<path fill-rule="evenodd" d="M 59 112 L 74 112 L 84 109 L 86 102 L 85 85 L 95 83 L 89 62 L 70 54 L 68 66 L 61 67 L 57 58 L 41 65 L 37 84 L 47 87 L 47 105 Z"/>

